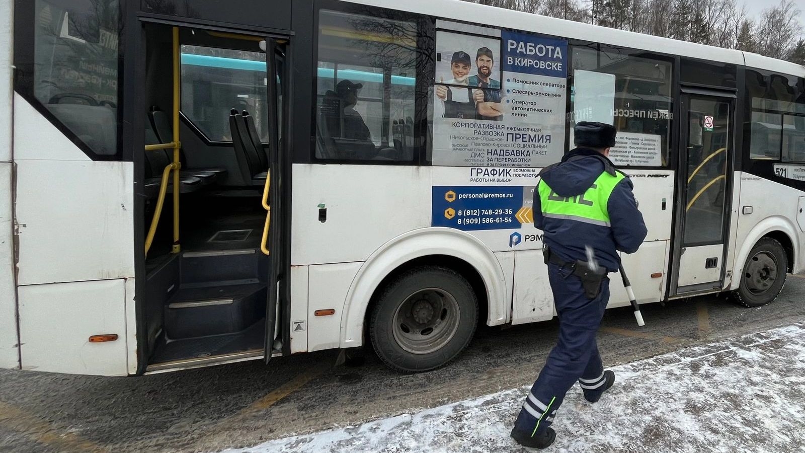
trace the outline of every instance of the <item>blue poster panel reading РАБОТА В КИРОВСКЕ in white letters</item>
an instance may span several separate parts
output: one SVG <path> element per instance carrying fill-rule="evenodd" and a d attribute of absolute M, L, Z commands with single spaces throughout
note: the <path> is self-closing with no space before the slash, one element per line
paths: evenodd
<path fill-rule="evenodd" d="M 568 77 L 568 41 L 503 31 L 503 70 Z"/>

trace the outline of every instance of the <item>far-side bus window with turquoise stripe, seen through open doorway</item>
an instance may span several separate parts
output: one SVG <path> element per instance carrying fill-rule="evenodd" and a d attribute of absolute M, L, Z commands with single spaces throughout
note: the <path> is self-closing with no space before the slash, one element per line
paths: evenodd
<path fill-rule="evenodd" d="M 229 109 L 247 110 L 268 143 L 266 54 L 183 44 L 182 113 L 213 142 L 231 142 Z"/>

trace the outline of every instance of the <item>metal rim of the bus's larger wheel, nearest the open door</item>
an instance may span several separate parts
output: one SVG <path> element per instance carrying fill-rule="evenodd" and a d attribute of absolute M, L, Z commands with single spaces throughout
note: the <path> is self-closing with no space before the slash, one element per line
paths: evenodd
<path fill-rule="evenodd" d="M 444 289 L 419 289 L 406 297 L 394 314 L 394 341 L 411 354 L 439 351 L 456 335 L 460 310 L 456 297 Z"/>

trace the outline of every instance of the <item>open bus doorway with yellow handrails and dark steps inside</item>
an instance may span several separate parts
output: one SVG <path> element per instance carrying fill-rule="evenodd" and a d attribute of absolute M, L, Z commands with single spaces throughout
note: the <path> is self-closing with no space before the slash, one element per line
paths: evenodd
<path fill-rule="evenodd" d="M 151 64 L 140 98 L 151 105 L 146 137 L 159 141 L 145 152 L 171 148 L 173 164 L 164 170 L 170 175 L 175 148 L 187 165 L 178 160 L 180 189 L 171 195 L 181 201 L 163 210 L 162 229 L 159 202 L 171 184 L 164 174 L 156 201 L 149 200 L 154 208 L 143 216 L 150 227 L 139 301 L 147 341 L 142 372 L 267 362 L 288 351 L 287 309 L 279 302 L 288 263 L 287 35 L 145 22 L 147 52 L 140 57 Z M 172 89 L 163 89 L 169 77 Z M 165 110 L 171 115 L 159 114 Z M 154 168 L 157 158 L 144 156 L 142 167 Z M 193 177 L 215 179 L 190 187 Z"/>

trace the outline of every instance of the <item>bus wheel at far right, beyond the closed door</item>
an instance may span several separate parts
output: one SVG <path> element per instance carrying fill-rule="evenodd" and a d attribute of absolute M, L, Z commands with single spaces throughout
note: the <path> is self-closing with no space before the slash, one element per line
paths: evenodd
<path fill-rule="evenodd" d="M 787 272 L 786 249 L 776 239 L 762 238 L 749 251 L 733 299 L 747 307 L 770 304 L 786 284 Z"/>

